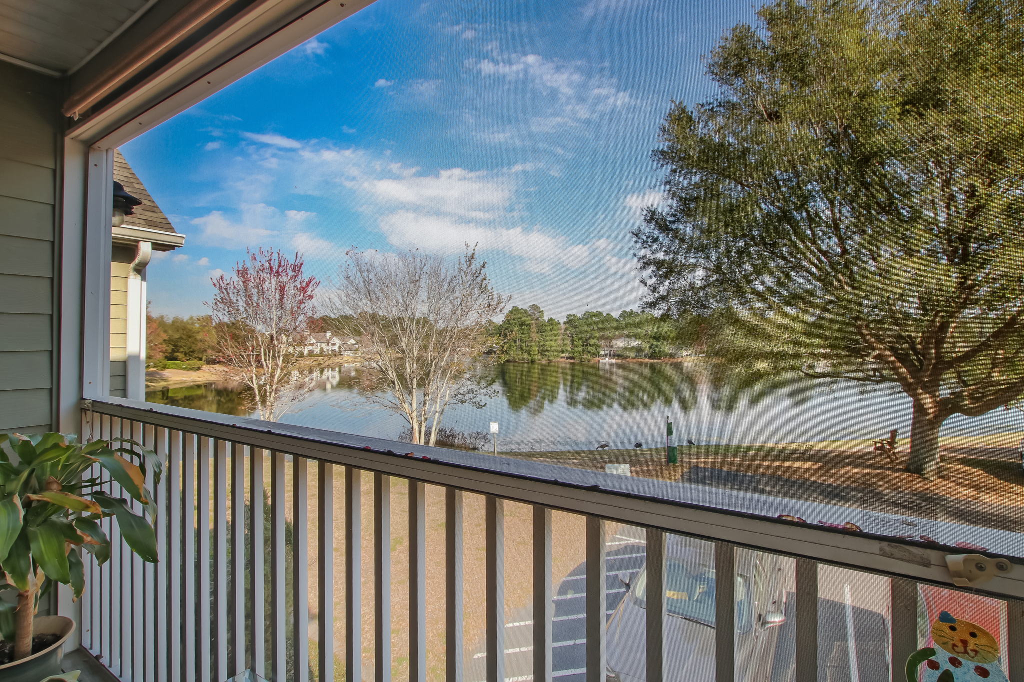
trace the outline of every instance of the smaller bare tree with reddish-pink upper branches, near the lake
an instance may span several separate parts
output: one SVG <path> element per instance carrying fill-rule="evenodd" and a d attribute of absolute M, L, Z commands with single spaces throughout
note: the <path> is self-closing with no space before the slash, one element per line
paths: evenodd
<path fill-rule="evenodd" d="M 298 370 L 298 353 L 313 320 L 319 281 L 303 274 L 298 254 L 247 251 L 231 275 L 212 279 L 217 350 L 253 392 L 261 419 L 275 420 L 315 387 Z"/>

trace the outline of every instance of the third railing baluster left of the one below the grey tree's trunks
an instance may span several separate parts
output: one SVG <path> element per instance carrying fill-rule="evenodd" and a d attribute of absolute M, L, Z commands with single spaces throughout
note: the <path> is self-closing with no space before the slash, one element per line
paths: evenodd
<path fill-rule="evenodd" d="M 316 594 L 318 605 L 319 682 L 334 680 L 334 465 L 321 462 L 316 486 Z"/>

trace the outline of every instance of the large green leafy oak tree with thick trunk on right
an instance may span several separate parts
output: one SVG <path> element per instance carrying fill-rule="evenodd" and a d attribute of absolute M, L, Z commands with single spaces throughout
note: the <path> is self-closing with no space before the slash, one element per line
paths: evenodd
<path fill-rule="evenodd" d="M 778 0 L 675 103 L 667 202 L 634 232 L 648 305 L 730 320 L 761 371 L 898 385 L 908 469 L 1024 392 L 1020 0 Z"/>

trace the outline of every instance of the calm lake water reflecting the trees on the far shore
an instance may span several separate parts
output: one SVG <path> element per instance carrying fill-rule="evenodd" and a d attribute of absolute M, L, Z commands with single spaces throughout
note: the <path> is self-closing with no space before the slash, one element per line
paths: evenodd
<path fill-rule="evenodd" d="M 368 404 L 358 366 L 315 370 L 319 382 L 281 420 L 349 434 L 396 438 L 404 420 Z M 665 418 L 673 443 L 792 443 L 881 438 L 892 428 L 910 434 L 910 402 L 902 393 L 852 381 L 823 382 L 801 376 L 750 385 L 726 378 L 703 363 L 506 363 L 485 370 L 498 395 L 480 409 L 454 405 L 443 423 L 486 431 L 498 421 L 499 449 L 584 450 L 606 443 L 632 448 L 665 443 Z M 146 394 L 155 403 L 244 415 L 237 385 L 203 383 Z M 944 436 L 1024 430 L 1019 411 L 950 417 Z"/>

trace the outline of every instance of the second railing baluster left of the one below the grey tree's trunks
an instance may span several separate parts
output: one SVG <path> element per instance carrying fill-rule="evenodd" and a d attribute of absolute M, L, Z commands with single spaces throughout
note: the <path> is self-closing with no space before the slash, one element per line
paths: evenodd
<path fill-rule="evenodd" d="M 362 472 L 345 469 L 345 681 L 362 680 Z"/>

